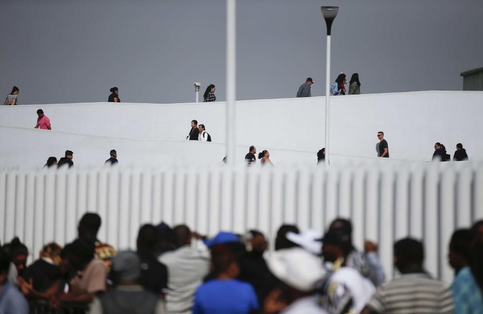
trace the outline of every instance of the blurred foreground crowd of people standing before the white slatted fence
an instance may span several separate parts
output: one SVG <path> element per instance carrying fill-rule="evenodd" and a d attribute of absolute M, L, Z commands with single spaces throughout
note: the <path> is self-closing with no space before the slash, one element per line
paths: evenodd
<path fill-rule="evenodd" d="M 0 312 L 75 307 L 89 313 L 482 313 L 483 220 L 454 231 L 451 285 L 424 265 L 412 238 L 394 243 L 399 275 L 386 281 L 377 245 L 353 244 L 337 218 L 325 234 L 280 226 L 274 252 L 258 230 L 208 238 L 186 225 L 139 228 L 136 251 L 117 253 L 98 239 L 101 217 L 85 213 L 77 239 L 46 244 L 27 265 L 19 238 L 0 250 Z"/>

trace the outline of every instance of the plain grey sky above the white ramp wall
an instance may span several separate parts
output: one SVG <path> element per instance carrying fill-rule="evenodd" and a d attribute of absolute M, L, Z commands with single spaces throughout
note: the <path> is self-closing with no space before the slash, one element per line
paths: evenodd
<path fill-rule="evenodd" d="M 338 5 L 331 80 L 361 92 L 461 90 L 483 66 L 481 0 L 238 0 L 237 99 L 325 95 L 326 26 Z M 225 0 L 1 0 L 0 93 L 20 104 L 192 102 L 193 82 L 225 99 Z"/>

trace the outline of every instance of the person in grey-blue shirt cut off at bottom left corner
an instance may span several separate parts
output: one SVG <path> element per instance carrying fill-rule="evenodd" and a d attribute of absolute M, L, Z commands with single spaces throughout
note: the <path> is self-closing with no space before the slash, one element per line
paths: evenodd
<path fill-rule="evenodd" d="M 10 265 L 8 254 L 0 250 L 0 313 L 28 314 L 27 301 L 7 279 Z"/>

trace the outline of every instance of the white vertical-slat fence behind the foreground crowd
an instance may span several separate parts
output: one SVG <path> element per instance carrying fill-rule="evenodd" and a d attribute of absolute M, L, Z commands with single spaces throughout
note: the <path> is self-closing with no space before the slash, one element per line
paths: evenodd
<path fill-rule="evenodd" d="M 135 248 L 140 225 L 162 220 L 209 235 L 256 228 L 273 240 L 282 223 L 324 231 L 349 217 L 355 246 L 377 242 L 389 277 L 394 240 L 412 236 L 424 241 L 428 271 L 449 282 L 451 233 L 483 219 L 483 163 L 0 170 L 1 240 L 20 237 L 31 258 L 48 242 L 72 241 L 86 211 L 101 215 L 99 239 L 118 249 Z"/>

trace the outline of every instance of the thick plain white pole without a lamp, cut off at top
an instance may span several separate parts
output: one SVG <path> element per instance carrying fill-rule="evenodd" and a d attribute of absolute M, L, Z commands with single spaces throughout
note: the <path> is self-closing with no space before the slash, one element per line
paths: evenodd
<path fill-rule="evenodd" d="M 226 0 L 226 163 L 235 161 L 236 0 Z"/>

